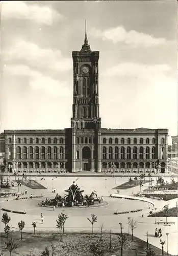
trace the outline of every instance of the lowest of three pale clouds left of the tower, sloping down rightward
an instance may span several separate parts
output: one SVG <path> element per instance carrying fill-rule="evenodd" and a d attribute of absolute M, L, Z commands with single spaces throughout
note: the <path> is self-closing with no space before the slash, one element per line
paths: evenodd
<path fill-rule="evenodd" d="M 4 76 L 12 75 L 14 79 L 20 80 L 22 76 L 28 77 L 28 84 L 33 91 L 47 94 L 52 97 L 67 97 L 70 91 L 65 81 L 55 80 L 42 73 L 31 69 L 26 65 L 6 65 L 3 69 Z"/>

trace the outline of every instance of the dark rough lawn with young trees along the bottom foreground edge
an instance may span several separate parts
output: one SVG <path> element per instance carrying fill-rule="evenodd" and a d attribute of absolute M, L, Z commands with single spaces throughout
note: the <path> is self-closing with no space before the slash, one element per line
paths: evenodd
<path fill-rule="evenodd" d="M 102 240 L 100 239 L 100 234 L 96 233 L 93 236 L 90 233 L 66 233 L 63 236 L 63 241 L 60 241 L 59 233 L 23 233 L 22 241 L 19 241 L 20 234 L 19 232 L 14 232 L 11 234 L 11 237 L 14 238 L 15 242 L 18 243 L 18 248 L 12 252 L 13 255 L 19 256 L 41 256 L 41 252 L 48 247 L 50 255 L 52 255 L 51 244 L 57 246 L 54 255 L 64 256 L 92 256 L 92 253 L 89 250 L 89 247 L 92 243 L 97 245 L 97 248 L 105 250 L 103 256 L 111 256 L 115 254 L 120 256 L 120 246 L 118 243 L 118 234 L 112 233 L 112 246 L 110 249 L 110 234 L 103 233 Z M 135 250 L 137 255 L 146 255 L 145 249 L 146 242 L 135 238 L 134 241 L 130 241 L 131 236 L 128 237 L 128 242 L 123 247 L 123 256 L 133 256 L 135 255 Z M 5 244 L 4 234 L 1 234 L 1 244 Z M 149 245 L 152 250 L 156 253 L 157 256 L 161 256 L 161 250 L 155 246 Z M 5 246 L 2 246 L 2 251 L 4 256 L 9 256 L 10 253 L 5 249 Z M 31 254 L 30 254 L 31 252 Z"/>

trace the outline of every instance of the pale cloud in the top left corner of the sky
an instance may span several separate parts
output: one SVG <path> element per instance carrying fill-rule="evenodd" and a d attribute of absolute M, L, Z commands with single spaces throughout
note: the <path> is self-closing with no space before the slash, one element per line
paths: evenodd
<path fill-rule="evenodd" d="M 49 6 L 38 3 L 29 4 L 22 1 L 2 2 L 2 17 L 11 19 L 34 20 L 39 24 L 52 25 L 54 20 L 63 20 L 64 16 Z"/>

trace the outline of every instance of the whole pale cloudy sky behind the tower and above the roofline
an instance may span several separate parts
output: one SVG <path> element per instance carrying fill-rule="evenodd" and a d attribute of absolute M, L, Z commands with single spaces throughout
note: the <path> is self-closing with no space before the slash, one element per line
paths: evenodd
<path fill-rule="evenodd" d="M 64 129 L 72 51 L 99 51 L 101 126 L 177 134 L 176 1 L 1 2 L 1 127 Z"/>

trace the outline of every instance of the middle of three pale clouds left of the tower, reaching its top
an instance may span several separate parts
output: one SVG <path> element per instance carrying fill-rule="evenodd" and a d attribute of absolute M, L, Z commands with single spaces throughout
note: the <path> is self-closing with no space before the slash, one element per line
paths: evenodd
<path fill-rule="evenodd" d="M 41 49 L 32 42 L 17 40 L 13 46 L 4 51 L 4 60 L 27 60 L 32 67 L 65 71 L 72 67 L 71 58 L 63 57 L 60 50 Z"/>

